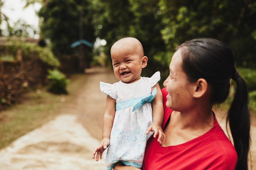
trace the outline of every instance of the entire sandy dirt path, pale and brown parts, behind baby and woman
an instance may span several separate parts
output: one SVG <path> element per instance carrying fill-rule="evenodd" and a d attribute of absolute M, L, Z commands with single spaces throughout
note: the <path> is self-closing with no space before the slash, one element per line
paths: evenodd
<path fill-rule="evenodd" d="M 0 170 L 98 170 L 103 160 L 92 159 L 92 151 L 102 137 L 106 95 L 99 82 L 117 81 L 111 70 L 86 70 L 86 83 L 76 100 L 60 110 L 60 115 L 0 151 Z M 225 129 L 225 118 L 216 110 Z M 253 119 L 254 120 L 254 119 Z M 255 121 L 253 121 L 255 122 Z M 256 168 L 256 128 L 252 126 L 252 169 Z"/>

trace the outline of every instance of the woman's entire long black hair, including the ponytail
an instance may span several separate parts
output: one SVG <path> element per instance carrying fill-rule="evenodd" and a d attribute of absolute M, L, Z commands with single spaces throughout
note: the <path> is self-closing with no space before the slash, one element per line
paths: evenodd
<path fill-rule="evenodd" d="M 219 104 L 228 97 L 230 78 L 236 81 L 236 94 L 228 110 L 227 124 L 233 137 L 238 156 L 236 170 L 248 169 L 250 147 L 250 113 L 248 92 L 244 79 L 235 69 L 234 56 L 222 42 L 210 39 L 194 39 L 181 44 L 183 70 L 189 81 L 204 78 L 211 85 L 211 102 Z"/>

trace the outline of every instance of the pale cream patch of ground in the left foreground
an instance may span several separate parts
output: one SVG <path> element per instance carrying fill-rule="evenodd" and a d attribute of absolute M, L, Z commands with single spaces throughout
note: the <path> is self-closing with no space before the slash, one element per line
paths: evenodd
<path fill-rule="evenodd" d="M 92 148 L 99 140 L 76 119 L 76 115 L 60 115 L 20 137 L 0 152 L 0 169 L 104 169 L 103 160 L 92 160 Z"/>

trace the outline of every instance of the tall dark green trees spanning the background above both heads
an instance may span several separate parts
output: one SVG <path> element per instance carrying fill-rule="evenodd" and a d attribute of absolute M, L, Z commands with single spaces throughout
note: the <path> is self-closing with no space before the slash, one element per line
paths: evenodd
<path fill-rule="evenodd" d="M 74 52 L 69 45 L 79 38 L 81 12 L 84 39 L 105 39 L 102 51 L 108 63 L 115 41 L 126 36 L 140 40 L 148 57 L 145 76 L 159 70 L 162 79 L 167 77 L 176 46 L 201 37 L 216 38 L 231 47 L 237 66 L 256 66 L 256 3 L 252 0 L 51 0 L 39 16 L 44 18 L 42 33 L 56 54 Z"/>

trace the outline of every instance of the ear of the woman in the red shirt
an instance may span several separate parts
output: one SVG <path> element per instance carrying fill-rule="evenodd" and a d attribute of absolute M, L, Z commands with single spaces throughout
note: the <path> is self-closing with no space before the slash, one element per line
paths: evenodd
<path fill-rule="evenodd" d="M 193 97 L 200 98 L 207 91 L 208 83 L 204 78 L 199 78 L 193 89 Z"/>

